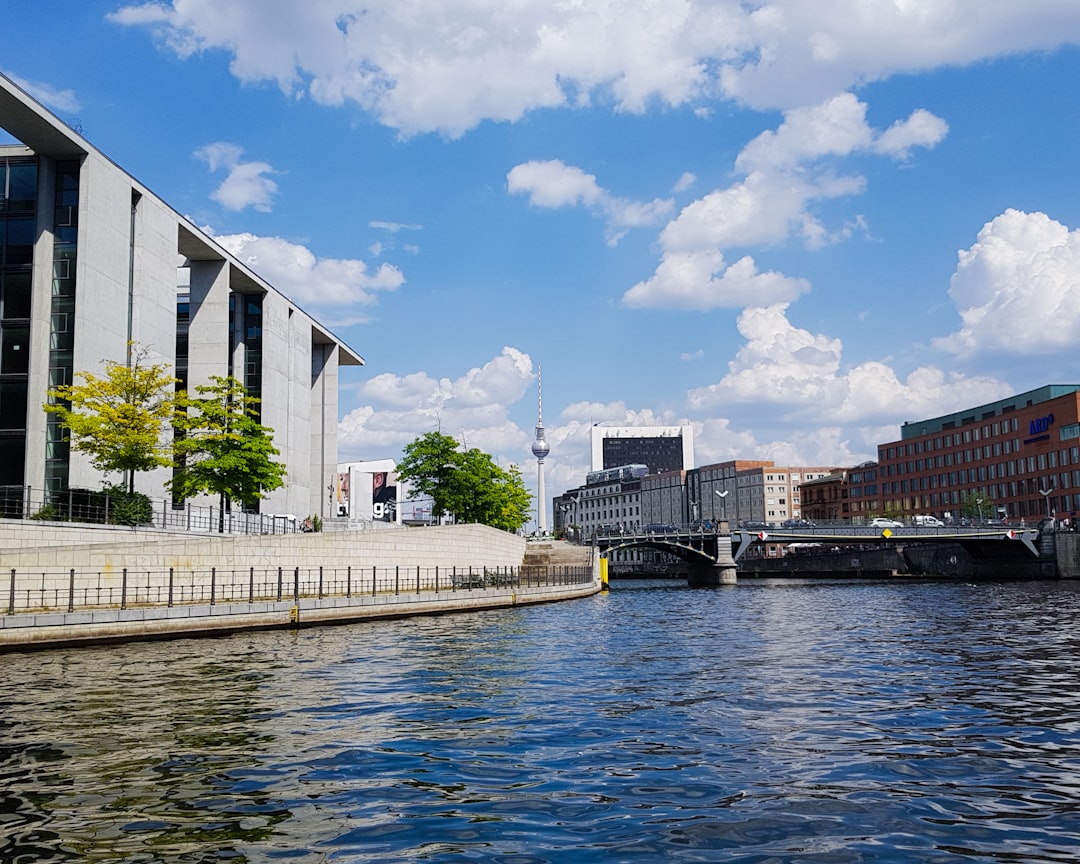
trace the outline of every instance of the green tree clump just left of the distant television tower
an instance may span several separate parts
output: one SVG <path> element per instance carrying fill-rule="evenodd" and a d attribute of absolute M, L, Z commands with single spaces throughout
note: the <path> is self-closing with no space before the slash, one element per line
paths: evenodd
<path fill-rule="evenodd" d="M 408 483 L 410 498 L 431 498 L 436 519 L 453 514 L 457 522 L 516 531 L 529 517 L 531 496 L 516 467 L 501 469 L 488 454 L 461 450 L 441 432 L 405 446 L 397 478 Z"/>

